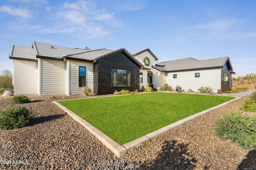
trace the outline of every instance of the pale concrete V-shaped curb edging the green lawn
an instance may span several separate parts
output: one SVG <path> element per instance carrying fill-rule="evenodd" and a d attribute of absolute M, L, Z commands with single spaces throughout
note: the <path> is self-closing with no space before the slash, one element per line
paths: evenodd
<path fill-rule="evenodd" d="M 58 107 L 60 107 L 61 109 L 63 109 L 66 113 L 68 113 L 74 120 L 76 120 L 78 123 L 80 123 L 81 125 L 83 125 L 90 133 L 92 133 L 92 135 L 94 135 L 96 138 L 99 139 L 99 141 L 102 142 L 102 144 L 104 144 L 108 149 L 110 149 L 116 156 L 121 157 L 124 154 L 130 152 L 131 150 L 140 147 L 141 145 L 144 145 L 147 141 L 150 141 L 151 139 L 166 133 L 167 131 L 169 131 L 170 129 L 174 129 L 192 119 L 195 119 L 196 117 L 199 117 L 200 115 L 203 115 L 205 113 L 208 113 L 214 109 L 217 109 L 219 107 L 222 107 L 234 100 L 237 100 L 239 98 L 241 98 L 240 96 L 234 96 L 236 98 L 229 100 L 228 102 L 222 103 L 218 106 L 212 107 L 210 109 L 206 109 L 204 111 L 201 111 L 199 113 L 196 113 L 194 115 L 191 115 L 189 117 L 186 117 L 180 121 L 177 121 L 175 123 L 172 123 L 170 125 L 167 125 L 165 127 L 162 127 L 161 129 L 158 129 L 154 132 L 151 132 L 145 136 L 142 136 L 138 139 L 135 139 L 134 141 L 130 141 L 124 145 L 120 145 L 118 144 L 116 141 L 114 141 L 113 139 L 111 139 L 110 137 L 108 137 L 106 134 L 104 134 L 102 131 L 98 130 L 96 127 L 92 126 L 90 123 L 88 123 L 87 121 L 85 121 L 84 119 L 82 119 L 81 117 L 79 117 L 78 115 L 76 115 L 75 113 L 73 113 L 72 111 L 70 111 L 68 108 L 66 108 L 65 106 L 63 106 L 62 104 L 58 103 L 58 101 L 52 101 L 54 104 L 56 104 Z"/>

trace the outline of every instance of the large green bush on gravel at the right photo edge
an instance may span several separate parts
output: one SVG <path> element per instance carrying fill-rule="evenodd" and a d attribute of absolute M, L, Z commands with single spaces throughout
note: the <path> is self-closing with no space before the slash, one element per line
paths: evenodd
<path fill-rule="evenodd" d="M 230 139 L 245 149 L 256 149 L 256 115 L 242 115 L 239 112 L 230 112 L 223 119 L 215 119 L 216 136 Z"/>

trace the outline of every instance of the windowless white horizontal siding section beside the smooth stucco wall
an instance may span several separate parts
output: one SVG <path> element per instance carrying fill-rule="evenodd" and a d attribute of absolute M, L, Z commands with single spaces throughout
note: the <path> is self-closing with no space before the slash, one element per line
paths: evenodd
<path fill-rule="evenodd" d="M 41 94 L 43 96 L 66 94 L 66 63 L 42 60 Z"/>

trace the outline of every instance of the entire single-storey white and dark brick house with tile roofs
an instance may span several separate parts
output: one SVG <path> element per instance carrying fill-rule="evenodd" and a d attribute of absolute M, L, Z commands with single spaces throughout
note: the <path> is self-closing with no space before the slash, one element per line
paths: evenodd
<path fill-rule="evenodd" d="M 79 49 L 32 42 L 32 47 L 12 45 L 14 95 L 79 95 L 84 86 L 95 94 L 114 90 L 134 91 L 146 83 L 166 84 L 197 91 L 201 86 L 230 90 L 232 65 L 228 57 L 192 58 L 157 63 L 150 49 L 129 53 L 126 49 Z"/>

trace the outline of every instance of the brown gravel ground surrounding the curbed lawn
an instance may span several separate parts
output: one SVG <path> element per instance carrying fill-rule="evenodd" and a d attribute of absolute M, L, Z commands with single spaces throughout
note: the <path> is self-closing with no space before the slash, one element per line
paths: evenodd
<path fill-rule="evenodd" d="M 239 111 L 247 97 L 172 129 L 121 158 L 52 103 L 84 97 L 28 96 L 32 102 L 23 106 L 36 112 L 35 123 L 0 130 L 0 169 L 256 169 L 256 150 L 218 139 L 213 129 L 214 119 L 231 110 Z M 12 106 L 12 100 L 0 98 L 0 109 Z"/>

